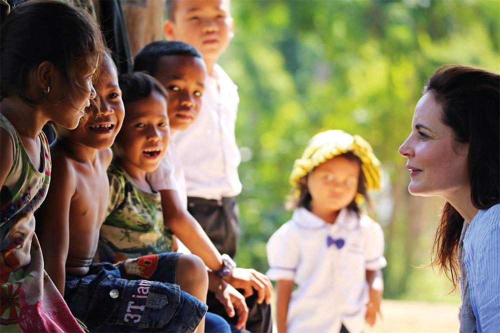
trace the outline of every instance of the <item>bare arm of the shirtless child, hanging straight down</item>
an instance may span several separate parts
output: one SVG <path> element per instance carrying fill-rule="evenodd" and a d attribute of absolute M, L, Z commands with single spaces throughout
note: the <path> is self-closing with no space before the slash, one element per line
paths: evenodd
<path fill-rule="evenodd" d="M 64 295 L 65 264 L 69 247 L 69 208 L 75 192 L 74 171 L 62 159 L 53 159 L 50 187 L 41 207 L 40 245 L 45 271 Z"/>

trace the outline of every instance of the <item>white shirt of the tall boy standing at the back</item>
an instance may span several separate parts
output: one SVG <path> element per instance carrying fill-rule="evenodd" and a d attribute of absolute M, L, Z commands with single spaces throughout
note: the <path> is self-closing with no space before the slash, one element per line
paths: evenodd
<path fill-rule="evenodd" d="M 237 86 L 217 64 L 204 84 L 198 119 L 172 140 L 184 167 L 187 195 L 220 200 L 241 192 L 234 135 L 239 97 Z"/>

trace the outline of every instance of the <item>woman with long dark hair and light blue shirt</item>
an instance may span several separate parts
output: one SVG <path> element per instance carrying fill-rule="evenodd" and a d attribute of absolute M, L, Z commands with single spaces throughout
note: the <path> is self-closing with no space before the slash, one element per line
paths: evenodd
<path fill-rule="evenodd" d="M 431 265 L 460 282 L 460 332 L 500 329 L 500 75 L 448 65 L 427 81 L 399 147 L 409 193 L 445 199 Z M 459 277 L 457 275 L 459 272 Z"/>

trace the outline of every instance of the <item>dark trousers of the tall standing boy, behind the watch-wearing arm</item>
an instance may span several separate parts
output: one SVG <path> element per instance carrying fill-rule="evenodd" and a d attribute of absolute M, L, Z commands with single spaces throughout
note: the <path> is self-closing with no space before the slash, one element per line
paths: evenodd
<path fill-rule="evenodd" d="M 239 214 L 236 199 L 207 200 L 188 197 L 187 210 L 201 225 L 215 248 L 221 254 L 225 253 L 234 258 L 239 236 Z M 272 332 L 270 305 L 265 303 L 257 304 L 256 293 L 246 298 L 245 301 L 249 311 L 246 330 L 253 333 Z M 237 323 L 237 315 L 229 318 L 224 307 L 217 301 L 215 294 L 212 292 L 208 292 L 206 305 L 208 311 L 223 317 L 233 325 Z"/>

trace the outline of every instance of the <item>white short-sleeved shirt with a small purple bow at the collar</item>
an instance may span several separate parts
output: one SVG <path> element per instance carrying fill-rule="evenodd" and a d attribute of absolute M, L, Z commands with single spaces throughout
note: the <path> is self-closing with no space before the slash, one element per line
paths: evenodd
<path fill-rule="evenodd" d="M 327 239 L 334 243 L 327 246 Z M 332 243 L 332 242 L 330 242 Z M 385 267 L 383 232 L 369 217 L 342 209 L 328 224 L 305 208 L 294 211 L 267 242 L 267 276 L 292 280 L 288 332 L 361 332 L 368 303 L 365 270 Z"/>

